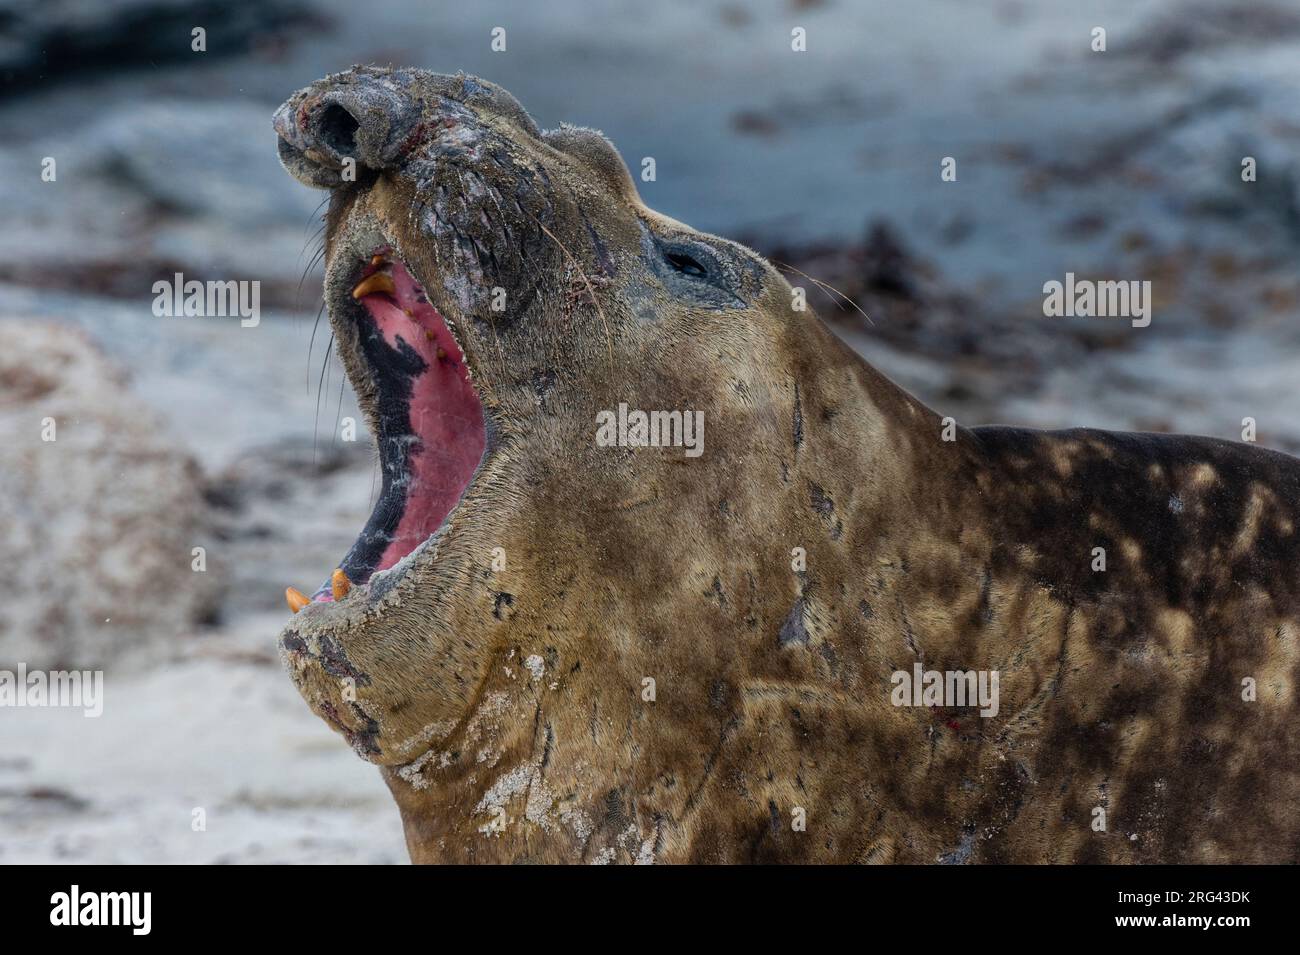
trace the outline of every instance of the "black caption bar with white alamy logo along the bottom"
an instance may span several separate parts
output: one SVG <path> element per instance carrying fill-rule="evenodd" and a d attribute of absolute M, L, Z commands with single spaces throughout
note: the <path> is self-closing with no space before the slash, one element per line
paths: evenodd
<path fill-rule="evenodd" d="M 913 941 L 940 921 L 998 930 L 1048 928 L 1098 936 L 1216 942 L 1277 932 L 1291 921 L 1286 867 L 911 867 L 607 869 L 39 867 L 8 869 L 0 895 L 10 942 L 75 933 L 79 943 L 140 945 L 250 938 L 376 943 L 432 924 L 507 926 L 549 913 L 575 937 L 619 912 L 650 929 L 662 920 L 707 920 L 745 934 L 775 919 L 792 928 L 842 924 L 872 938 Z M 602 895 L 608 895 L 602 900 Z M 749 899 L 749 902 L 744 902 Z M 759 908 L 755 910 L 754 906 Z M 649 920 L 649 921 L 646 921 Z M 936 921 L 940 920 L 940 921 Z M 554 924 L 554 923 L 552 923 Z M 404 926 L 404 928 L 403 928 Z M 811 928 L 811 926 L 810 926 Z M 762 934 L 762 933 L 759 933 Z M 935 937 L 937 939 L 937 937 Z M 922 945 L 922 949 L 926 946 Z"/>

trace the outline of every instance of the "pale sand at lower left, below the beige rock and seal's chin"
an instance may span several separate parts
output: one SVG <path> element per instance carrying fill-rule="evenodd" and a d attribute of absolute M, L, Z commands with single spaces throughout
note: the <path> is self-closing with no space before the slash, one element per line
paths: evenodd
<path fill-rule="evenodd" d="M 406 861 L 376 770 L 321 732 L 266 652 L 278 624 L 110 677 L 99 719 L 6 713 L 0 861 Z M 235 652 L 240 637 L 259 650 Z"/>

